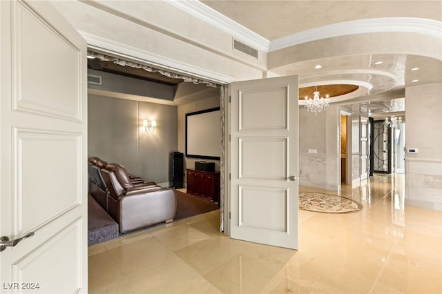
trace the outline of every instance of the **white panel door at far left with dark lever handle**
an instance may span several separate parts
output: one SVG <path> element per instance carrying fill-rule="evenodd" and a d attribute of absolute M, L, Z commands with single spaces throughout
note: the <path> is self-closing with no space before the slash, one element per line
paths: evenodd
<path fill-rule="evenodd" d="M 0 19 L 0 291 L 87 293 L 86 41 L 45 1 Z"/>

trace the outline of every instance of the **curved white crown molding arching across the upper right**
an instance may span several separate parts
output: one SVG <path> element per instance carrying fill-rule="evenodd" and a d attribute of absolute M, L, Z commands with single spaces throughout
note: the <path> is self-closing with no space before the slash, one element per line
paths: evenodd
<path fill-rule="evenodd" d="M 416 32 L 442 39 L 442 22 L 413 17 L 385 17 L 344 21 L 275 39 L 270 42 L 269 52 L 310 41 L 367 32 Z"/>

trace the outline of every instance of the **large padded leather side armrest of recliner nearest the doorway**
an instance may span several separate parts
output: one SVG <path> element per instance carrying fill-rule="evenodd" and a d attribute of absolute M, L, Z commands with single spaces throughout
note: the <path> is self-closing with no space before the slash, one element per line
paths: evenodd
<path fill-rule="evenodd" d="M 157 189 L 126 195 L 119 201 L 119 230 L 133 231 L 175 218 L 177 199 L 173 189 Z"/>

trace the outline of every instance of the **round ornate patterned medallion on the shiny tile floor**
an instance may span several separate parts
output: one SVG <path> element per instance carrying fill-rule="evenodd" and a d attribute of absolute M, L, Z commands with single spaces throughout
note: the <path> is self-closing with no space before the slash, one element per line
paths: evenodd
<path fill-rule="evenodd" d="M 358 202 L 327 193 L 300 192 L 299 208 L 316 213 L 356 213 L 361 211 Z"/>

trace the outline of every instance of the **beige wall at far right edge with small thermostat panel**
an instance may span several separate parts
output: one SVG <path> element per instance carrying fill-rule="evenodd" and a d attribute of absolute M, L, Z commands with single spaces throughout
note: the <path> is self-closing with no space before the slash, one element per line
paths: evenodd
<path fill-rule="evenodd" d="M 405 203 L 442 210 L 442 84 L 405 89 Z"/>

